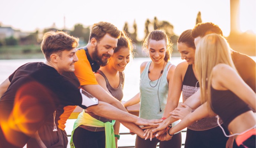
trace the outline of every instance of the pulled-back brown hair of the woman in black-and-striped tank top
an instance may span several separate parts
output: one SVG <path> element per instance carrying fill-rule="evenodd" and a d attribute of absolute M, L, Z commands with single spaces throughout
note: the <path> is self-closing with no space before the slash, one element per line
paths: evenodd
<path fill-rule="evenodd" d="M 187 45 L 187 47 L 191 47 L 193 49 L 196 49 L 194 38 L 191 36 L 192 29 L 186 30 L 178 37 L 178 43 L 184 43 Z"/>

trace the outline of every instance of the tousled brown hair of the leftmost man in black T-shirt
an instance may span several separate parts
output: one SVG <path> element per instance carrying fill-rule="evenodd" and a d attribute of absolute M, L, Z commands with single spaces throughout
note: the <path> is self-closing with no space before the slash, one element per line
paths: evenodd
<path fill-rule="evenodd" d="M 49 31 L 43 35 L 41 50 L 46 60 L 49 61 L 51 54 L 72 50 L 78 46 L 78 41 L 78 38 L 72 37 L 63 31 Z"/>

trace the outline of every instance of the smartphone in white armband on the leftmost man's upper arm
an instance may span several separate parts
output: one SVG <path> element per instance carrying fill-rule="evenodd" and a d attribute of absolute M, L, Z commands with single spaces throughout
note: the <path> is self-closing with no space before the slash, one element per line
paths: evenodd
<path fill-rule="evenodd" d="M 98 99 L 93 97 L 89 92 L 80 88 L 80 93 L 82 95 L 82 105 L 90 107 L 92 105 L 97 105 L 99 103 Z"/>

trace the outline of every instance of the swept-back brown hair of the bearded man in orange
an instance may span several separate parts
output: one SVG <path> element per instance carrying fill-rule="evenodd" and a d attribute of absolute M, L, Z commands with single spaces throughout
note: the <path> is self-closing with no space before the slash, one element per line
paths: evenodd
<path fill-rule="evenodd" d="M 115 27 L 113 24 L 100 21 L 99 23 L 93 24 L 93 26 L 91 27 L 89 42 L 92 38 L 100 41 L 101 38 L 104 37 L 107 33 L 114 38 L 120 38 L 121 36 L 121 31 L 118 30 L 118 28 Z"/>

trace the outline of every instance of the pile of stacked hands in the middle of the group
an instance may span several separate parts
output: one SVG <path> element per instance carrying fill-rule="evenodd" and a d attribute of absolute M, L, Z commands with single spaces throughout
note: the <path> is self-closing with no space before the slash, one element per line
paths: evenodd
<path fill-rule="evenodd" d="M 160 141 L 170 140 L 173 137 L 174 133 L 178 132 L 178 131 L 175 131 L 174 128 L 172 128 L 171 126 L 172 122 L 177 120 L 182 120 L 191 111 L 192 109 L 188 105 L 182 103 L 177 108 L 175 108 L 172 112 L 170 112 L 170 117 L 161 118 L 158 125 L 154 125 L 154 126 L 148 125 L 148 126 L 141 127 L 141 129 L 145 129 L 144 130 L 145 134 L 143 135 L 145 137 L 145 140 L 150 138 L 150 141 L 151 141 L 152 138 L 155 138 L 155 137 Z"/>

